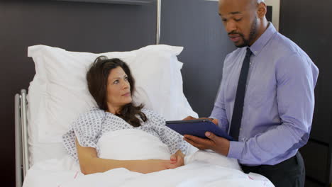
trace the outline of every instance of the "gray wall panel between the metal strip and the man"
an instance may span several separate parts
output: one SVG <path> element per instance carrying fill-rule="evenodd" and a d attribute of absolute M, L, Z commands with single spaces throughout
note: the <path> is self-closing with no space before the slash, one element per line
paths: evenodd
<path fill-rule="evenodd" d="M 184 94 L 194 111 L 208 117 L 222 77 L 223 60 L 235 49 L 218 16 L 217 1 L 162 1 L 160 42 L 184 46 Z"/>

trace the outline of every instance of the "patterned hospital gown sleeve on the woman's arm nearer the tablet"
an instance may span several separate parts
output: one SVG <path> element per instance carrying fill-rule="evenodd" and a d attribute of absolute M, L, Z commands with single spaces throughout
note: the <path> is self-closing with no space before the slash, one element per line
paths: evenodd
<path fill-rule="evenodd" d="M 167 145 L 170 154 L 175 154 L 179 149 L 183 154 L 189 152 L 189 143 L 183 140 L 183 136 L 174 130 L 168 128 L 165 124 L 165 118 L 153 113 L 148 120 L 152 120 L 153 128 L 160 137 L 160 140 Z"/>

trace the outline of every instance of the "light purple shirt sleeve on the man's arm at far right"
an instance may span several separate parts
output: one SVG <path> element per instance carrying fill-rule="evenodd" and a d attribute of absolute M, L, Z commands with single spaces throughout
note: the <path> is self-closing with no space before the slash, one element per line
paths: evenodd
<path fill-rule="evenodd" d="M 309 139 L 317 67 L 309 57 L 294 53 L 277 62 L 275 74 L 282 124 L 243 142 L 231 142 L 228 157 L 243 164 L 265 163 L 284 152 L 299 149 Z"/>

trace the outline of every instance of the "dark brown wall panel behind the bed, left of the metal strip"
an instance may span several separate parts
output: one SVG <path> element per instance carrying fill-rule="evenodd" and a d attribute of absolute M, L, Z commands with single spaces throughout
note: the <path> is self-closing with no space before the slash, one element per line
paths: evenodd
<path fill-rule="evenodd" d="M 15 184 L 14 94 L 28 89 L 35 74 L 27 47 L 109 52 L 155 44 L 155 10 L 155 3 L 0 1 L 2 186 Z"/>

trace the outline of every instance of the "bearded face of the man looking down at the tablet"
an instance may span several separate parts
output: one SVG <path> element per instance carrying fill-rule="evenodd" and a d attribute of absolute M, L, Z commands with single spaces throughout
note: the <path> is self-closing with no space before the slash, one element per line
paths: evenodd
<path fill-rule="evenodd" d="M 258 33 L 257 4 L 252 0 L 220 0 L 219 15 L 236 47 L 250 46 Z"/>

